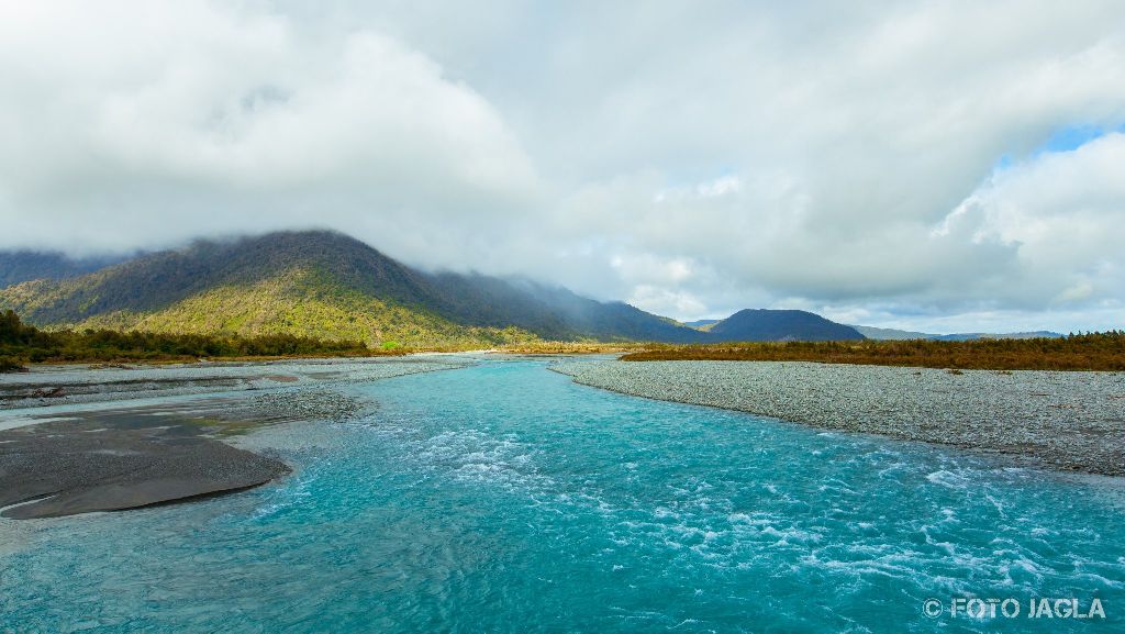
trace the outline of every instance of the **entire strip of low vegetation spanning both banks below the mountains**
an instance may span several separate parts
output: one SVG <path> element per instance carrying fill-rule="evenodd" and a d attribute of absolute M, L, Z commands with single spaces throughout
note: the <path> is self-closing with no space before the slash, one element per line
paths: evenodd
<path fill-rule="evenodd" d="M 366 357 L 428 351 L 457 352 L 482 348 L 480 339 L 475 337 L 441 346 L 385 342 L 379 347 L 370 347 L 360 340 L 321 339 L 289 333 L 248 337 L 119 329 L 47 331 L 22 323 L 14 311 L 0 312 L 0 372 L 18 372 L 27 363 Z M 1125 370 L 1125 331 L 1119 330 L 1062 338 L 971 341 L 911 339 L 666 345 L 529 340 L 504 342 L 492 349 L 515 355 L 624 352 L 621 359 L 627 361 L 817 361 L 951 369 Z"/>

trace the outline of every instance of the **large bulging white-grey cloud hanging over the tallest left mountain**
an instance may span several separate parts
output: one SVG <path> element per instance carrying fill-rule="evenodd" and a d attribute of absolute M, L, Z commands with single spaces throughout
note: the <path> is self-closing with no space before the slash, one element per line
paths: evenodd
<path fill-rule="evenodd" d="M 234 7 L 7 9 L 9 242 L 151 248 L 302 224 L 377 238 L 503 218 L 534 193 L 494 108 L 423 54 Z"/>

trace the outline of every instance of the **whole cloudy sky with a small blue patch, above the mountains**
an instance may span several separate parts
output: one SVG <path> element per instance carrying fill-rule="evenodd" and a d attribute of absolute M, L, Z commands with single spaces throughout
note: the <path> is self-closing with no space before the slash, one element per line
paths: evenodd
<path fill-rule="evenodd" d="M 0 249 L 330 227 L 683 320 L 1125 328 L 1118 1 L 0 1 Z"/>

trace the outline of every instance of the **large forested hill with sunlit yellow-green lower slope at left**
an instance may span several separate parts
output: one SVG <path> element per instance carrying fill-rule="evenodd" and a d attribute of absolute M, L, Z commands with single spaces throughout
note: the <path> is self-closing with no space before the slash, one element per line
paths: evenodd
<path fill-rule="evenodd" d="M 539 339 L 450 321 L 424 277 L 325 232 L 200 242 L 93 274 L 0 289 L 0 309 L 51 328 L 292 334 L 369 346 L 490 346 Z"/>

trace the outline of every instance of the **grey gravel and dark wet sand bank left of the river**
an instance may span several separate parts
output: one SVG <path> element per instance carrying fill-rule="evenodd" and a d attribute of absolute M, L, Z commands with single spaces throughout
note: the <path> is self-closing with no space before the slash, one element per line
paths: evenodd
<path fill-rule="evenodd" d="M 465 365 L 320 359 L 9 375 L 0 379 L 7 408 L 0 413 L 0 515 L 123 510 L 264 484 L 290 465 L 263 455 L 268 447 L 237 447 L 240 437 L 279 422 L 351 420 L 376 404 L 346 393 L 349 384 Z"/>

